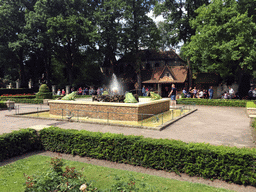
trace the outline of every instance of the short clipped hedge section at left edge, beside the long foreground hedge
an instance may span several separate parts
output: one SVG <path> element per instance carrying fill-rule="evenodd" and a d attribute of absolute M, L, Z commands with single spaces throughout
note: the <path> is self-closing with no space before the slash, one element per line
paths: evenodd
<path fill-rule="evenodd" d="M 33 129 L 0 135 L 0 161 L 39 149 L 42 149 L 42 145 Z"/>

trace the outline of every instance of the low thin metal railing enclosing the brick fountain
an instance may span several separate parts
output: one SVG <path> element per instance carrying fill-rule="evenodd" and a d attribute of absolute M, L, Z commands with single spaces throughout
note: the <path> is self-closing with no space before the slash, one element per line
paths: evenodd
<path fill-rule="evenodd" d="M 146 126 L 146 127 L 157 127 L 165 124 L 168 121 L 175 120 L 182 115 L 189 113 L 195 109 L 195 103 L 182 105 L 174 110 L 159 114 L 146 114 L 146 113 L 119 113 L 119 112 L 104 112 L 104 111 L 91 111 L 81 109 L 52 109 L 52 113 L 49 114 L 50 119 L 61 119 L 77 122 L 99 122 L 107 124 L 121 124 L 131 126 Z M 40 117 L 41 112 L 49 110 L 49 107 L 45 105 L 37 106 L 15 106 L 15 114 L 27 114 L 34 113 L 37 117 Z M 35 115 L 33 115 L 35 116 Z M 129 118 L 123 120 L 123 116 Z"/>

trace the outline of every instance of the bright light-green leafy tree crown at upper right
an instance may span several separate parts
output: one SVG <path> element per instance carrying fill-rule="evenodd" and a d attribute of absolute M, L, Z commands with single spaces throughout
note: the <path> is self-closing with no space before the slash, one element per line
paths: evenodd
<path fill-rule="evenodd" d="M 218 72 L 227 81 L 255 68 L 256 25 L 247 12 L 238 12 L 235 0 L 214 0 L 196 13 L 196 34 L 182 48 L 195 69 Z"/>

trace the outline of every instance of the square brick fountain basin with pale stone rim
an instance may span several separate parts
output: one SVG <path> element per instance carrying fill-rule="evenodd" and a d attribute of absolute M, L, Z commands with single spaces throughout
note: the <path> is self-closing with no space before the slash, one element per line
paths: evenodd
<path fill-rule="evenodd" d="M 92 101 L 49 101 L 50 114 L 58 116 L 88 117 L 121 121 L 140 121 L 170 110 L 170 99 L 139 103 L 113 103 Z"/>

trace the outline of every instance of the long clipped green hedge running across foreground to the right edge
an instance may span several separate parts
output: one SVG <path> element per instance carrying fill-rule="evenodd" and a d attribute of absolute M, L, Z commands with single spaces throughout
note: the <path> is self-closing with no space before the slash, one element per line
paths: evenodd
<path fill-rule="evenodd" d="M 56 127 L 41 130 L 40 138 L 49 151 L 256 186 L 256 149 Z"/>

